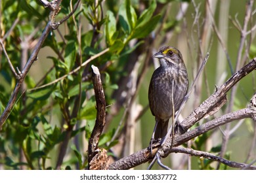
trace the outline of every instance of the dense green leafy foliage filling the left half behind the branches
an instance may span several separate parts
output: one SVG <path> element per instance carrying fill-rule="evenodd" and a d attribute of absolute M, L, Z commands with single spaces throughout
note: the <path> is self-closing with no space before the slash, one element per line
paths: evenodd
<path fill-rule="evenodd" d="M 169 31 L 181 30 L 180 20 L 166 18 L 165 11 L 171 3 L 179 7 L 183 1 L 143 1 L 142 7 L 139 5 L 141 2 L 130 0 L 95 2 L 81 1 L 75 13 L 58 29 L 51 31 L 43 43 L 38 60 L 26 76 L 14 108 L 0 131 L 0 167 L 3 169 L 56 169 L 57 161 L 63 160 L 60 149 L 67 141 L 69 145 L 65 149 L 61 168 L 87 167 L 86 142 L 96 118 L 91 65 L 100 69 L 110 116 L 113 112 L 111 105 L 120 103 L 116 105 L 117 112 L 111 116 L 114 119 L 110 120 L 111 124 L 108 124 L 99 142 L 100 147 L 107 150 L 116 146 L 119 134 L 127 130 L 125 124 L 121 124 L 121 129 L 117 131 L 120 116 L 125 116 L 122 109 L 129 105 L 127 101 L 130 100 L 120 94 L 123 88 L 129 88 L 129 80 L 123 78 L 130 75 L 133 69 L 129 68 L 135 67 L 135 63 L 146 60 L 144 54 L 152 49 L 150 46 L 154 45 L 152 42 L 158 36 L 156 33 L 165 39 Z M 4 40 L 5 49 L 14 68 L 22 71 L 49 21 L 49 9 L 39 1 L 5 0 L 1 3 L 1 39 L 8 35 Z M 70 14 L 75 3 L 77 1 L 63 1 L 56 20 Z M 14 24 L 16 21 L 18 24 Z M 110 48 L 106 54 L 96 57 L 70 75 L 87 59 L 106 48 Z M 150 63 L 145 62 L 143 66 L 148 68 Z M 140 67 L 138 73 L 142 69 Z M 62 80 L 54 82 L 62 76 L 65 76 Z M 143 78 L 144 73 L 140 76 Z M 17 82 L 3 50 L 0 55 L 0 81 L 2 114 Z M 33 90 L 51 82 L 54 83 Z M 214 88 L 214 84 L 211 87 Z M 144 90 L 147 86 L 142 85 L 141 88 L 141 100 L 146 100 Z M 193 147 L 204 150 L 203 145 L 210 137 L 211 133 L 198 137 Z M 149 138 L 145 141 L 148 143 Z M 226 157 L 229 158 L 229 154 Z M 198 160 L 200 169 L 212 169 L 210 163 Z"/>

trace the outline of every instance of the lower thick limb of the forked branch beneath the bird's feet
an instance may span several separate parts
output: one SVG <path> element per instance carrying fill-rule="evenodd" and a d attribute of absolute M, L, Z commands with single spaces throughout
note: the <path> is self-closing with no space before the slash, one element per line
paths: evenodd
<path fill-rule="evenodd" d="M 173 141 L 173 146 L 180 146 L 181 144 L 184 144 L 184 142 L 187 142 L 190 139 L 193 139 L 194 137 L 198 137 L 199 135 L 202 135 L 203 133 L 211 129 L 215 129 L 220 125 L 224 125 L 234 120 L 239 120 L 242 118 L 251 118 L 255 120 L 255 108 L 244 108 L 236 112 L 230 112 L 228 114 L 225 114 L 224 116 L 211 120 L 210 122 L 207 122 L 205 124 L 202 124 L 199 127 L 196 127 L 195 129 L 192 129 L 191 131 L 188 131 L 182 135 L 177 135 L 175 136 L 175 139 Z M 159 145 L 155 144 L 154 149 L 152 151 L 153 154 L 155 154 L 158 151 L 158 148 L 160 148 Z M 171 137 L 167 139 L 167 142 L 160 151 L 161 157 L 166 157 L 171 152 L 173 152 L 171 148 Z M 115 163 L 112 163 L 109 169 L 131 169 L 132 167 L 136 167 L 137 165 L 145 163 L 150 159 L 152 159 L 152 156 L 150 155 L 150 150 L 149 148 L 145 148 L 143 150 L 140 150 L 139 152 L 136 152 L 135 154 L 126 156 L 125 158 L 119 159 Z"/>

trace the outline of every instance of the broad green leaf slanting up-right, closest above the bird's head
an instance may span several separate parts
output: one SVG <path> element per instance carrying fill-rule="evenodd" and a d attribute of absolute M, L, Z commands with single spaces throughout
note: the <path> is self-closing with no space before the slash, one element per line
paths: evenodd
<path fill-rule="evenodd" d="M 144 38 L 147 35 L 149 35 L 156 28 L 156 25 L 158 24 L 160 18 L 161 18 L 161 15 L 158 14 L 154 16 L 150 21 L 146 22 L 146 24 L 141 25 L 139 27 L 135 27 L 135 30 L 131 39 Z"/>

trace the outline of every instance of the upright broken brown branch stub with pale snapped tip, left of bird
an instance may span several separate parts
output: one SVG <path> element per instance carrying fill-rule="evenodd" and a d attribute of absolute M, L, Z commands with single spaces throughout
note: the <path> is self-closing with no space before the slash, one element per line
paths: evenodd
<path fill-rule="evenodd" d="M 98 140 L 100 139 L 100 135 L 106 123 L 106 101 L 102 82 L 100 79 L 100 71 L 98 71 L 98 67 L 95 67 L 94 65 L 92 65 L 91 68 L 93 71 L 93 88 L 95 90 L 97 114 L 95 120 L 95 127 L 93 128 L 93 132 L 91 133 L 91 137 L 89 139 L 89 163 L 91 162 L 91 159 L 93 159 L 93 157 L 95 156 L 96 149 L 98 148 Z"/>

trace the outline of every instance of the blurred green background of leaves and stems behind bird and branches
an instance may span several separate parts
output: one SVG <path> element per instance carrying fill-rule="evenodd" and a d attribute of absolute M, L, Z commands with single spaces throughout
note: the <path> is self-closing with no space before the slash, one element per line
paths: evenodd
<path fill-rule="evenodd" d="M 81 1 L 74 15 L 53 30 L 41 48 L 20 90 L 16 105 L 0 132 L 0 169 L 85 169 L 87 141 L 95 124 L 96 108 L 91 65 L 100 69 L 106 95 L 106 127 L 100 147 L 109 150 L 111 161 L 146 148 L 154 128 L 148 108 L 148 85 L 158 61 L 152 59 L 163 45 L 175 46 L 183 56 L 190 85 L 209 52 L 209 60 L 182 110 L 186 118 L 211 93 L 256 55 L 255 5 L 249 15 L 238 59 L 241 31 L 249 1 Z M 250 1 L 253 2 L 253 1 Z M 39 1 L 0 1 L 0 33 L 14 68 L 22 68 L 47 24 L 49 9 Z M 56 21 L 62 20 L 77 1 L 62 1 Z M 253 2 L 254 3 L 254 2 Z M 18 21 L 17 24 L 14 24 Z M 214 25 L 213 25 L 214 24 Z M 8 33 L 14 25 L 12 31 Z M 230 57 L 224 54 L 217 33 Z M 110 51 L 79 72 L 43 89 L 28 90 L 70 73 L 105 48 Z M 0 114 L 7 106 L 16 79 L 1 49 Z M 236 84 L 234 99 L 200 124 L 231 110 L 245 108 L 255 87 L 255 72 Z M 22 92 L 27 90 L 22 95 Z M 230 103 L 234 101 L 234 103 Z M 233 129 L 239 122 L 232 122 Z M 117 127 L 120 124 L 120 128 Z M 226 127 L 192 139 L 191 146 L 219 155 Z M 68 140 L 65 138 L 69 137 Z M 114 135 L 115 134 L 115 135 Z M 224 158 L 249 163 L 255 159 L 255 122 L 244 120 L 230 134 Z M 64 157 L 60 152 L 64 143 Z M 66 152 L 66 153 L 65 153 Z M 249 158 L 247 158 L 249 157 Z M 163 159 L 172 169 L 216 169 L 217 163 L 183 154 Z M 62 161 L 61 161 L 62 160 Z M 57 166 L 58 161 L 61 161 Z M 148 163 L 135 169 L 146 169 Z M 161 169 L 158 165 L 154 169 Z M 219 169 L 231 169 L 221 165 Z"/>

